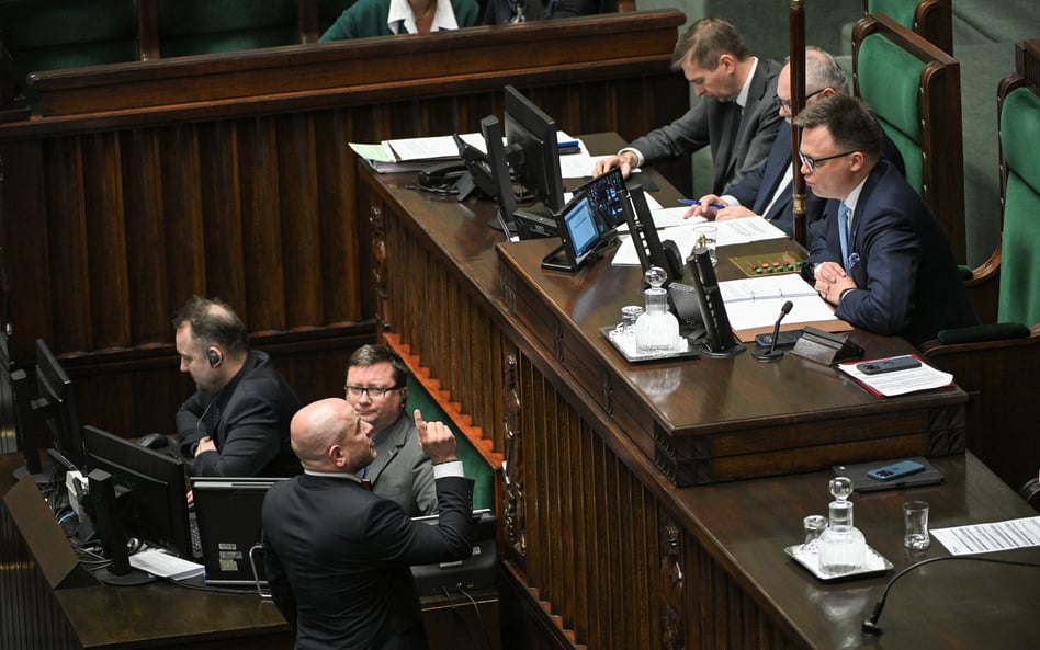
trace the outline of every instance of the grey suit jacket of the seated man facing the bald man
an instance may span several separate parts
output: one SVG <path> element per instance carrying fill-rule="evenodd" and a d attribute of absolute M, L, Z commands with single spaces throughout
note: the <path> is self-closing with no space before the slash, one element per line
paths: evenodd
<path fill-rule="evenodd" d="M 437 513 L 433 464 L 419 446 L 418 437 L 415 421 L 403 411 L 376 435 L 375 460 L 364 472 L 373 492 L 395 501 L 412 517 Z"/>

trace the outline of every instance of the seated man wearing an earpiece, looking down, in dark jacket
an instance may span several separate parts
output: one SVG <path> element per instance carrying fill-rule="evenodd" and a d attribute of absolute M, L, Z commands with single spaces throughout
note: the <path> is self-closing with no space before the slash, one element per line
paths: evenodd
<path fill-rule="evenodd" d="M 181 372 L 195 394 L 177 411 L 191 476 L 287 477 L 302 471 L 289 424 L 301 403 L 246 328 L 218 299 L 193 296 L 173 319 Z"/>

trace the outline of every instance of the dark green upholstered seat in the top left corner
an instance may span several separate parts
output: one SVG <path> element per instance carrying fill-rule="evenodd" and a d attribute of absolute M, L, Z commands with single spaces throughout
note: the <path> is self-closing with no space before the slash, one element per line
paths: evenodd
<path fill-rule="evenodd" d="M 0 38 L 30 104 L 36 103 L 25 83 L 30 72 L 139 58 L 134 0 L 0 2 Z"/>

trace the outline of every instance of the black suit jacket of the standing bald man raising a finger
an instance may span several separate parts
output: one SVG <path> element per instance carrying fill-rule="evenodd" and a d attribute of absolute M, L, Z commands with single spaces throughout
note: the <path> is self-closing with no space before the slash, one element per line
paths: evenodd
<path fill-rule="evenodd" d="M 472 552 L 473 481 L 437 481 L 440 523 L 416 523 L 349 478 L 302 475 L 263 500 L 274 604 L 296 650 L 421 650 L 426 631 L 410 565 Z"/>

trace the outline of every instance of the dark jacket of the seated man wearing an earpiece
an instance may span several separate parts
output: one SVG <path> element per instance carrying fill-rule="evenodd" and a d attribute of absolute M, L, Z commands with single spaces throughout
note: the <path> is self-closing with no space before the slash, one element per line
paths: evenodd
<path fill-rule="evenodd" d="M 191 476 L 270 476 L 301 472 L 289 441 L 299 410 L 296 394 L 264 352 L 250 351 L 242 369 L 216 396 L 197 390 L 177 411 L 181 453 Z M 217 451 L 193 458 L 203 436 Z"/>

